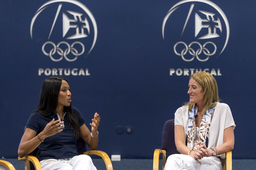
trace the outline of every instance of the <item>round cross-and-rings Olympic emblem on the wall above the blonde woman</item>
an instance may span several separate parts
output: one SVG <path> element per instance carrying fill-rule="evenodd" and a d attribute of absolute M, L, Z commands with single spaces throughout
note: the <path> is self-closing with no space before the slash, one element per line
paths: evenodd
<path fill-rule="evenodd" d="M 211 11 L 211 12 L 209 12 Z M 180 33 L 180 34 L 177 34 Z M 168 11 L 162 36 L 184 61 L 204 62 L 227 46 L 229 24 L 224 12 L 209 0 L 182 0 Z"/>

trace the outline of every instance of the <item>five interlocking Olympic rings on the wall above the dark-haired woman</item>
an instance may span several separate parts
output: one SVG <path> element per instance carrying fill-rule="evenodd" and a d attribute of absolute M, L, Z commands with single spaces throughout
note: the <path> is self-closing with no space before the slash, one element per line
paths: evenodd
<path fill-rule="evenodd" d="M 53 46 L 53 48 L 50 50 L 49 53 L 47 53 L 47 52 L 45 51 L 45 49 L 44 49 L 45 45 L 47 45 L 47 44 L 52 44 L 52 46 Z M 61 44 L 67 45 L 67 48 L 66 48 L 65 50 L 61 49 L 61 48 L 59 47 Z M 80 53 L 78 53 L 78 50 L 77 50 L 76 48 L 74 48 L 74 45 L 75 45 L 75 44 L 80 44 L 80 45 L 82 46 L 82 51 L 81 51 Z M 73 42 L 73 43 L 70 45 L 69 43 L 67 43 L 67 42 L 65 42 L 65 41 L 62 41 L 62 42 L 59 42 L 57 45 L 55 45 L 55 43 L 53 43 L 53 42 L 51 42 L 51 41 L 48 41 L 48 42 L 45 42 L 45 43 L 43 44 L 43 46 L 42 46 L 42 51 L 43 51 L 43 53 L 44 53 L 45 55 L 50 56 L 51 60 L 53 60 L 53 61 L 55 61 L 55 62 L 62 60 L 63 57 L 64 57 L 67 61 L 70 61 L 70 62 L 71 62 L 71 61 L 75 61 L 79 55 L 82 55 L 82 54 L 84 53 L 84 44 L 83 44 L 82 42 L 76 41 L 76 42 Z M 61 56 L 61 57 L 58 58 L 58 59 L 53 58 L 53 55 L 56 53 L 56 51 L 57 51 L 57 53 Z M 73 59 L 69 59 L 69 58 L 67 57 L 67 55 L 68 55 L 70 52 L 75 56 Z"/>

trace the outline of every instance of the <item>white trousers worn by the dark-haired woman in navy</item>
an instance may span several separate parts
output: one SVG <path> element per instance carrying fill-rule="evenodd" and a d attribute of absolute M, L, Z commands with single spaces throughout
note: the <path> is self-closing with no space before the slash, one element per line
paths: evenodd
<path fill-rule="evenodd" d="M 97 170 L 88 155 L 77 155 L 70 160 L 45 159 L 40 164 L 42 170 Z"/>

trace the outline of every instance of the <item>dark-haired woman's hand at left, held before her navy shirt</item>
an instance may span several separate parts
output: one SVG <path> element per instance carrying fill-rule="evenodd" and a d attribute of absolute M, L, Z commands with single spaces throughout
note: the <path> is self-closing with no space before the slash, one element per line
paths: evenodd
<path fill-rule="evenodd" d="M 60 126 L 64 124 L 64 122 L 61 122 L 61 120 L 54 121 L 54 118 L 51 122 L 46 124 L 44 130 L 39 133 L 40 139 L 44 140 L 46 137 L 52 136 L 56 133 L 59 133 L 63 130 L 63 126 Z"/>

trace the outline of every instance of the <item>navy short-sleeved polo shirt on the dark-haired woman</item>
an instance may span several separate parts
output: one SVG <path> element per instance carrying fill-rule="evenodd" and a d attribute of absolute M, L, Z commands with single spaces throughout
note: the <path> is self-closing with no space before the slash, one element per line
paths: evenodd
<path fill-rule="evenodd" d="M 80 127 L 84 124 L 84 119 L 77 108 L 72 107 L 73 112 L 76 114 Z M 38 160 L 44 159 L 65 159 L 78 155 L 76 150 L 76 137 L 73 135 L 72 126 L 67 119 L 66 115 L 63 118 L 64 130 L 46 137 L 44 142 L 38 146 Z M 26 128 L 35 130 L 40 133 L 52 119 L 58 120 L 56 113 L 51 113 L 48 116 L 43 116 L 39 112 L 34 112 L 30 115 Z"/>

